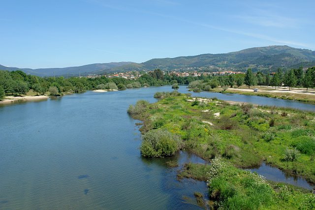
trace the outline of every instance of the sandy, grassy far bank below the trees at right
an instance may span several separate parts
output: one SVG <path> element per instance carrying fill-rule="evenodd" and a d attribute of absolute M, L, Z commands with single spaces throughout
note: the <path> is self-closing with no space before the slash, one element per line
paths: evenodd
<path fill-rule="evenodd" d="M 250 89 L 248 87 L 241 87 L 241 88 L 228 88 L 225 91 L 222 88 L 214 88 L 209 91 L 211 92 L 222 92 L 222 93 L 238 93 L 243 95 L 257 95 L 263 97 L 271 97 L 271 98 L 280 98 L 286 100 L 295 100 L 295 101 L 302 101 L 307 103 L 315 103 L 315 92 L 312 89 L 306 90 L 298 90 L 298 89 L 284 89 L 284 88 L 277 88 L 276 90 L 272 87 L 260 87 L 255 86 L 258 88 L 258 92 L 253 91 L 254 87 Z"/>

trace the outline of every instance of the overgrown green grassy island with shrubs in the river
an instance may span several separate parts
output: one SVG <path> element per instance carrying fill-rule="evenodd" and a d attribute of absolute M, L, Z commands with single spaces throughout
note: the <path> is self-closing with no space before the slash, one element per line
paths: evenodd
<path fill-rule="evenodd" d="M 315 113 L 192 98 L 161 92 L 156 103 L 138 101 L 128 113 L 143 121 L 141 153 L 193 152 L 211 165 L 188 163 L 179 177 L 208 181 L 222 209 L 314 209 L 315 195 L 272 183 L 244 168 L 262 161 L 315 183 Z"/>

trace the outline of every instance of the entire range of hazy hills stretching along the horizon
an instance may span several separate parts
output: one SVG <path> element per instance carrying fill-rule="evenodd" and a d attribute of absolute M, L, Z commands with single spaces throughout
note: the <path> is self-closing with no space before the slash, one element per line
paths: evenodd
<path fill-rule="evenodd" d="M 202 68 L 203 70 L 216 70 L 220 68 L 243 71 L 251 67 L 253 70 L 268 70 L 278 67 L 311 67 L 315 64 L 315 51 L 292 48 L 289 46 L 254 47 L 237 52 L 224 54 L 202 54 L 197 56 L 181 56 L 177 58 L 152 59 L 142 63 L 111 62 L 95 63 L 83 66 L 65 68 L 41 68 L 20 70 L 37 76 L 68 75 L 74 76 L 94 73 L 104 74 L 110 72 L 130 70 L 162 70 Z M 1 70 L 18 70 L 15 67 L 1 66 Z"/>

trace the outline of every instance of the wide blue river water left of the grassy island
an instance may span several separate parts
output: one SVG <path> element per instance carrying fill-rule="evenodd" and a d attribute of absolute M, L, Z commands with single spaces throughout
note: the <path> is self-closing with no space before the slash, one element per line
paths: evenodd
<path fill-rule="evenodd" d="M 139 99 L 155 102 L 157 91 L 171 87 L 0 107 L 0 209 L 198 209 L 193 193 L 206 193 L 206 183 L 177 181 L 178 168 L 165 161 L 200 158 L 145 159 L 138 150 L 139 127 L 126 109 Z"/>

